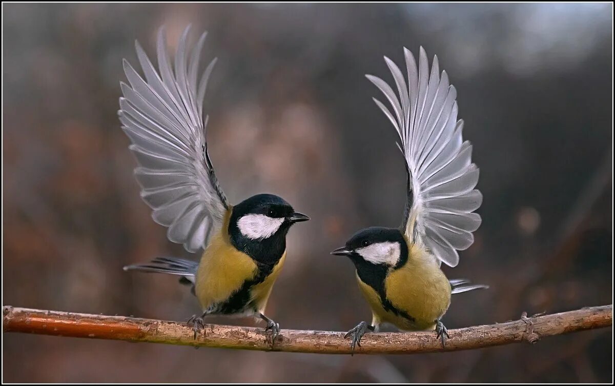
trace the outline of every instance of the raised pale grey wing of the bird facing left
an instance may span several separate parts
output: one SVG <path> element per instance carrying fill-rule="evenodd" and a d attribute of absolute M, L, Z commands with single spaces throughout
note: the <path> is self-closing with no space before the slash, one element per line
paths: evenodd
<path fill-rule="evenodd" d="M 438 68 L 438 58 L 429 69 L 421 47 L 419 65 L 404 49 L 408 82 L 389 58 L 384 60 L 395 81 L 399 98 L 391 86 L 378 77 L 367 78 L 383 92 L 389 110 L 374 99 L 391 120 L 406 160 L 408 199 L 402 230 L 413 243 L 422 243 L 448 266 L 459 262 L 457 250 L 472 245 L 472 232 L 480 216 L 482 194 L 474 187 L 478 168 L 470 160 L 472 146 L 462 141 L 463 121 L 457 120 L 457 92 Z"/>

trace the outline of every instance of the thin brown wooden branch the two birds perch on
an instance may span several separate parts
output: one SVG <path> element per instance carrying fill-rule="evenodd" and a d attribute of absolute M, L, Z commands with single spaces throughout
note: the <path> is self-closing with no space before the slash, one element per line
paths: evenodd
<path fill-rule="evenodd" d="M 205 325 L 194 339 L 192 328 L 185 323 L 151 319 L 111 317 L 58 311 L 2 308 L 4 332 L 56 336 L 117 339 L 130 342 L 153 342 L 227 349 L 350 353 L 344 333 L 283 329 L 271 347 L 263 328 Z M 520 320 L 450 329 L 450 339 L 442 347 L 433 331 L 418 333 L 368 333 L 355 353 L 420 353 L 470 350 L 515 342 L 536 343 L 545 336 L 573 333 L 585 329 L 613 326 L 613 305 L 526 317 Z"/>

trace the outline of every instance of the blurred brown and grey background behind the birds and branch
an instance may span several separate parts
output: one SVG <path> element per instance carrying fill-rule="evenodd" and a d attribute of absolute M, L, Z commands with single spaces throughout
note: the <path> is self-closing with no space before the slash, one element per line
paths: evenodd
<path fill-rule="evenodd" d="M 448 328 L 613 302 L 612 4 L 3 4 L 3 304 L 186 320 L 177 278 L 123 272 L 188 257 L 152 221 L 116 111 L 134 40 L 186 24 L 219 58 L 208 141 L 230 202 L 271 192 L 312 221 L 290 232 L 268 305 L 282 328 L 371 320 L 329 251 L 397 226 L 405 171 L 363 77 L 383 55 L 438 55 L 458 90 L 485 196 L 449 277 Z M 154 55 L 155 56 L 155 55 Z M 196 258 L 196 256 L 193 256 Z M 251 320 L 215 320 L 244 323 Z M 261 325 L 262 326 L 262 325 Z M 609 382 L 613 330 L 467 352 L 325 356 L 6 334 L 6 382 Z"/>

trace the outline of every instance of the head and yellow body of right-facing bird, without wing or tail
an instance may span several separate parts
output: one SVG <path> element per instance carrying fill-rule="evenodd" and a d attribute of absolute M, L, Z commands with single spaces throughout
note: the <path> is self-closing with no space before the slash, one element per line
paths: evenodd
<path fill-rule="evenodd" d="M 223 231 L 210 240 L 195 275 L 194 292 L 204 313 L 264 313 L 286 258 L 286 234 L 297 219 L 292 207 L 274 195 L 256 195 L 228 211 Z"/>

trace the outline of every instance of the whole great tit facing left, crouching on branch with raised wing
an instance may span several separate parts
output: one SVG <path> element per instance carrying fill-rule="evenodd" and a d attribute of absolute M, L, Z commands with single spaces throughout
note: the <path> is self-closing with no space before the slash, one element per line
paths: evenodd
<path fill-rule="evenodd" d="M 367 75 L 383 92 L 392 111 L 374 98 L 399 134 L 407 171 L 407 203 L 399 228 L 370 227 L 354 234 L 346 245 L 331 252 L 348 256 L 357 281 L 370 304 L 371 325 L 362 321 L 348 331 L 351 347 L 360 345 L 368 330 L 391 323 L 407 331 L 435 329 L 436 338 L 448 337 L 440 320 L 451 294 L 487 288 L 468 280 L 448 280 L 440 269 L 454 267 L 457 250 L 472 242 L 481 219 L 472 213 L 482 203 L 474 187 L 478 168 L 471 162 L 472 146 L 462 141 L 463 121 L 457 120 L 456 90 L 446 72 L 440 77 L 438 58 L 429 71 L 421 47 L 419 67 L 404 49 L 408 83 L 395 63 L 384 57 L 395 81 L 394 90 L 378 77 Z"/>

